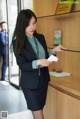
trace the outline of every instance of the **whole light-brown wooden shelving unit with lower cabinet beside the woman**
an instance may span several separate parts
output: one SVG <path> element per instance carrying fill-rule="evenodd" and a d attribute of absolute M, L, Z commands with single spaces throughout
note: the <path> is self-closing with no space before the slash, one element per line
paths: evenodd
<path fill-rule="evenodd" d="M 62 45 L 75 52 L 58 53 L 59 61 L 51 64 L 50 70 L 70 72 L 72 79 L 80 82 L 80 52 L 76 52 L 80 51 L 80 4 L 74 5 L 72 13 L 62 15 L 55 15 L 57 5 L 58 0 L 33 0 L 37 32 L 45 35 L 50 50 L 54 47 L 54 30 L 62 31 Z M 45 119 L 80 119 L 80 100 L 49 86 L 44 115 Z"/>

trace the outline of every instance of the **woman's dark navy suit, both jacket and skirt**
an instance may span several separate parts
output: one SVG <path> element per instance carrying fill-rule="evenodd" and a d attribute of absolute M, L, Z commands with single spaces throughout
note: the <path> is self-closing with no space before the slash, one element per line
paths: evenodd
<path fill-rule="evenodd" d="M 41 34 L 35 34 L 34 36 L 38 39 L 40 44 L 43 46 L 43 48 L 45 50 L 46 58 L 48 58 L 47 46 L 46 46 L 44 36 Z M 13 41 L 14 49 L 15 49 L 15 44 L 16 44 L 15 42 L 16 41 Z M 37 60 L 37 57 L 36 57 L 32 47 L 29 44 L 27 39 L 25 39 L 25 48 L 23 50 L 23 55 L 16 56 L 16 60 L 17 60 L 17 64 L 18 64 L 19 68 L 21 69 L 20 85 L 23 89 L 25 98 L 28 102 L 28 106 L 30 105 L 28 97 L 29 97 L 31 91 L 34 90 L 34 93 L 35 93 L 35 91 L 38 90 L 38 93 L 37 93 L 37 95 L 38 95 L 38 94 L 41 94 L 39 92 L 41 92 L 41 90 L 42 90 L 42 96 L 38 96 L 39 100 L 41 101 L 40 103 L 42 103 L 42 104 L 39 106 L 37 106 L 35 104 L 34 107 L 30 107 L 30 109 L 38 110 L 38 109 L 43 108 L 43 106 L 45 104 L 45 100 L 46 100 L 48 81 L 50 80 L 48 68 L 47 67 L 38 68 L 38 69 L 32 68 L 32 61 Z M 44 89 L 44 91 L 43 91 L 43 89 Z M 30 92 L 30 93 L 28 93 L 28 92 Z M 43 97 L 43 99 L 42 99 L 42 97 Z M 32 100 L 33 103 L 34 102 L 36 103 L 35 98 L 33 100 Z"/>

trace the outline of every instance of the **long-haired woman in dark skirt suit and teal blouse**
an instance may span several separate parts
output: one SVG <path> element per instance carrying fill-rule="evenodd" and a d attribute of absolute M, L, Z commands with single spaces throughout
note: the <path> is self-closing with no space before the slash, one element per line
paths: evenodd
<path fill-rule="evenodd" d="M 36 22 L 33 11 L 26 9 L 19 12 L 13 34 L 13 47 L 21 70 L 20 85 L 28 109 L 32 111 L 34 119 L 44 119 L 43 107 L 50 81 L 48 66 L 51 63 L 47 58 L 63 47 L 59 45 L 48 53 L 44 36 L 36 32 Z"/>

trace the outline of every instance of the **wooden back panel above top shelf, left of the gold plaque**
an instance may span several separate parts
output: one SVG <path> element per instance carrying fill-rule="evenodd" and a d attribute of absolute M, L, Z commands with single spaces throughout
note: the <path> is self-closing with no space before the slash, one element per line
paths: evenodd
<path fill-rule="evenodd" d="M 33 0 L 33 10 L 37 17 L 55 14 L 58 0 Z"/>

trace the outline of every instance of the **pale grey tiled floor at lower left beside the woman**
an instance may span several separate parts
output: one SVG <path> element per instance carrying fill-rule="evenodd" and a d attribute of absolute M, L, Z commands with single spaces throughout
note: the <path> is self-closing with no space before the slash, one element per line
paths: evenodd
<path fill-rule="evenodd" d="M 5 81 L 0 81 L 1 111 L 8 111 L 9 119 L 33 119 L 31 111 L 27 109 L 22 91 Z"/>

